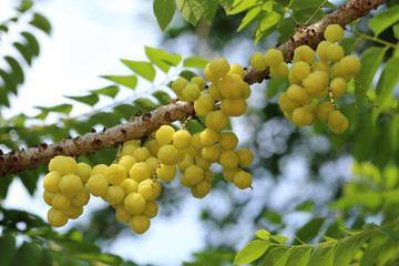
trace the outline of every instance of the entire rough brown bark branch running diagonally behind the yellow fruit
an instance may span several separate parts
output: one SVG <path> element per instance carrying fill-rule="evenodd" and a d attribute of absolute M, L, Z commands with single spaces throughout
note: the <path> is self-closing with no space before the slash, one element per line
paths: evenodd
<path fill-rule="evenodd" d="M 293 59 L 295 48 L 308 44 L 313 49 L 316 49 L 317 44 L 324 40 L 323 32 L 328 24 L 338 23 L 345 27 L 365 17 L 372 9 L 377 9 L 386 1 L 387 0 L 349 0 L 348 3 L 336 11 L 326 14 L 319 22 L 309 27 L 298 25 L 297 33 L 277 49 L 283 52 L 284 60 L 289 62 Z M 257 72 L 249 66 L 246 70 L 245 81 L 249 84 L 259 83 L 265 79 L 268 79 L 268 69 Z M 185 119 L 193 113 L 193 103 L 176 101 L 168 105 L 160 106 L 150 113 L 133 117 L 126 124 L 115 125 L 112 129 L 96 133 L 86 133 L 83 136 L 76 136 L 74 139 L 64 139 L 51 145 L 42 143 L 39 147 L 2 154 L 0 155 L 0 176 L 48 164 L 55 155 L 62 154 L 74 157 L 90 155 L 95 151 L 114 147 L 129 140 L 139 140 L 151 134 L 161 125 Z"/>

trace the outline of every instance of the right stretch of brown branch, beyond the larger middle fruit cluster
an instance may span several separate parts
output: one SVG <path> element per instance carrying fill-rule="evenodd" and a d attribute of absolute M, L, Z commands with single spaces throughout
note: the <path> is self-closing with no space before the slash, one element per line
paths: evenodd
<path fill-rule="evenodd" d="M 377 9 L 387 0 L 349 0 L 334 12 L 327 13 L 320 21 L 311 25 L 298 25 L 297 32 L 284 44 L 276 47 L 284 55 L 284 61 L 293 60 L 294 50 L 307 44 L 316 49 L 317 44 L 325 40 L 324 31 L 329 24 L 340 24 L 342 28 L 350 22 L 365 17 L 372 9 Z M 249 84 L 260 83 L 269 79 L 268 68 L 264 71 L 255 71 L 252 66 L 246 70 L 245 81 Z"/>

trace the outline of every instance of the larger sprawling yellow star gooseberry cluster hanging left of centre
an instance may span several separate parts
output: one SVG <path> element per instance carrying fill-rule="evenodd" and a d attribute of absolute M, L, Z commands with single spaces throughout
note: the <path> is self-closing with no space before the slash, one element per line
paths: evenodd
<path fill-rule="evenodd" d="M 174 180 L 177 168 L 180 183 L 197 198 L 205 197 L 212 188 L 213 163 L 224 167 L 225 181 L 241 190 L 250 187 L 252 175 L 243 167 L 250 165 L 254 155 L 248 149 L 235 151 L 238 137 L 226 131 L 228 116 L 239 116 L 247 109 L 245 99 L 250 90 L 243 81 L 244 69 L 228 64 L 225 59 L 214 59 L 205 68 L 205 76 L 213 82 L 209 93 L 202 93 L 206 82 L 201 76 L 190 83 L 180 78 L 172 84 L 180 100 L 194 101 L 196 114 L 205 116 L 206 129 L 202 132 L 191 134 L 184 125 L 177 131 L 162 125 L 145 143 L 137 140 L 124 143 L 116 161 L 109 166 L 91 167 L 62 155 L 52 158 L 43 181 L 43 197 L 51 206 L 49 223 L 60 227 L 70 218 L 78 218 L 92 195 L 111 204 L 120 222 L 143 234 L 150 219 L 157 215 L 160 181 Z"/>

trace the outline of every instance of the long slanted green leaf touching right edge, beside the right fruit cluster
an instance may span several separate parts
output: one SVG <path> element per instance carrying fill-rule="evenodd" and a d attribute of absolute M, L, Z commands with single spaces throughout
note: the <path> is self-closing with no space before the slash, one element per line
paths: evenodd
<path fill-rule="evenodd" d="M 399 58 L 390 58 L 387 61 L 383 71 L 378 80 L 377 90 L 376 90 L 377 92 L 376 103 L 378 105 L 381 106 L 386 102 L 386 100 L 393 91 L 393 88 L 398 84 L 399 82 L 399 75 L 397 74 L 398 69 L 399 69 Z"/>

